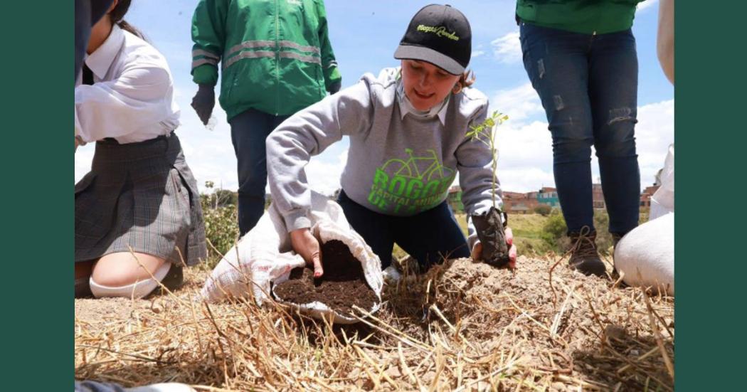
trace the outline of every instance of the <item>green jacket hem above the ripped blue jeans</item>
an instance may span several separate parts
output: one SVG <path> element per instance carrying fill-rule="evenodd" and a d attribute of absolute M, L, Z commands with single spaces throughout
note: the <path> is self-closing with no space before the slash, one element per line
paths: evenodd
<path fill-rule="evenodd" d="M 517 0 L 516 16 L 533 25 L 581 34 L 607 34 L 633 25 L 643 0 Z"/>

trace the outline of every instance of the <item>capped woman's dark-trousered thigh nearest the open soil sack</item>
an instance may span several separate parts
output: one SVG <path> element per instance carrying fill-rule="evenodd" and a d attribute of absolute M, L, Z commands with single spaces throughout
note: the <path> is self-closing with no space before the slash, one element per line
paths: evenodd
<path fill-rule="evenodd" d="M 350 200 L 344 191 L 337 199 L 342 207 L 345 219 L 363 240 L 371 246 L 381 260 L 382 269 L 391 265 L 391 251 L 394 249 L 394 233 L 391 229 L 392 217 L 379 214 Z M 324 255 L 322 255 L 322 258 Z M 322 263 L 324 260 L 322 260 Z"/>

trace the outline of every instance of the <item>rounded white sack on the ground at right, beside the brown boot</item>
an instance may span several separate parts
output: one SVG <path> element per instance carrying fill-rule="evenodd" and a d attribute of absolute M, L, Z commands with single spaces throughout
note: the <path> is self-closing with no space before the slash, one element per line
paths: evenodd
<path fill-rule="evenodd" d="M 639 225 L 617 243 L 615 267 L 630 286 L 675 295 L 675 214 Z"/>

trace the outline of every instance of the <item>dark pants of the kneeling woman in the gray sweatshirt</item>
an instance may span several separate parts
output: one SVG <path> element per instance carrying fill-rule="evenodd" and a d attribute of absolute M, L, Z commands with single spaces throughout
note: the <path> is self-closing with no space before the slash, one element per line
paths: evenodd
<path fill-rule="evenodd" d="M 382 268 L 391 265 L 394 243 L 424 269 L 444 258 L 467 258 L 470 255 L 467 240 L 447 202 L 412 217 L 391 217 L 371 211 L 353 202 L 344 191 L 340 192 L 337 202 L 347 222 L 379 256 Z"/>

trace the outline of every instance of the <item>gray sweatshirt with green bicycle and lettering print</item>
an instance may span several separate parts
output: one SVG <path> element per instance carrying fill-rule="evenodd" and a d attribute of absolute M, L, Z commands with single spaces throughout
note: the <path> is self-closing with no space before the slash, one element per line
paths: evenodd
<path fill-rule="evenodd" d="M 359 205 L 379 214 L 412 216 L 443 202 L 459 172 L 465 211 L 487 211 L 492 206 L 491 152 L 465 137 L 469 125 L 483 122 L 487 111 L 486 96 L 465 88 L 450 95 L 440 110 L 417 113 L 402 93 L 399 69 L 363 75 L 358 84 L 294 114 L 267 137 L 273 203 L 288 231 L 310 227 L 304 167 L 311 156 L 349 136 L 340 183 Z M 497 191 L 500 207 L 500 184 Z M 470 222 L 470 247 L 475 238 Z"/>

